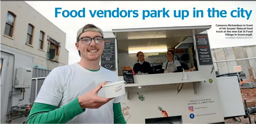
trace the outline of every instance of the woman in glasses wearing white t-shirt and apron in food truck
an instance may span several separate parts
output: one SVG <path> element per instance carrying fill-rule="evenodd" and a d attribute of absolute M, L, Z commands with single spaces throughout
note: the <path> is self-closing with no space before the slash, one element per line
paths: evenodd
<path fill-rule="evenodd" d="M 164 73 L 182 72 L 180 61 L 174 60 L 174 52 L 172 50 L 167 51 L 168 60 L 163 63 Z"/>

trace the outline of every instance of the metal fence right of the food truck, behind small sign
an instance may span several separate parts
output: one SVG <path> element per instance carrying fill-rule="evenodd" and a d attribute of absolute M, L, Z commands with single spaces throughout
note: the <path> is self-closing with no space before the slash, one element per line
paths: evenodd
<path fill-rule="evenodd" d="M 239 75 L 244 78 L 243 80 L 250 80 L 250 75 L 253 75 L 255 79 L 256 57 L 236 60 L 214 61 L 214 68 L 216 74 L 218 75 L 235 73 L 234 66 L 241 66 L 243 72 L 239 73 Z"/>

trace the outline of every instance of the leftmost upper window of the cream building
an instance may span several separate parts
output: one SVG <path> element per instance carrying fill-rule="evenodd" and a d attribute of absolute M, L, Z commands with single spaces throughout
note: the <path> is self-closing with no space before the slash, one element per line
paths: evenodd
<path fill-rule="evenodd" d="M 4 35 L 12 37 L 15 17 L 16 15 L 14 13 L 8 11 L 7 18 L 6 18 L 6 25 L 4 28 Z"/>

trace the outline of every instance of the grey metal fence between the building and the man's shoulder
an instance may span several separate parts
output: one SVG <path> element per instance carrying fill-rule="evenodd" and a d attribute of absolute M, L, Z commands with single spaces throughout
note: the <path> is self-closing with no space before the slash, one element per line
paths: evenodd
<path fill-rule="evenodd" d="M 46 77 L 51 70 L 46 70 L 46 69 L 41 69 L 41 68 L 33 68 L 33 75 L 32 78 L 39 78 L 39 77 Z M 30 94 L 30 103 L 34 103 L 35 101 L 35 92 L 37 91 L 36 94 L 39 93 L 41 86 L 43 85 L 44 79 L 39 79 L 38 80 L 38 86 L 36 89 L 36 80 L 32 80 L 31 84 L 31 94 Z"/>

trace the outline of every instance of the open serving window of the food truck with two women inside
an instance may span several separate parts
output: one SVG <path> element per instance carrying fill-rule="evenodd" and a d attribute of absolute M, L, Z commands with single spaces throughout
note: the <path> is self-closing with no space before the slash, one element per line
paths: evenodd
<path fill-rule="evenodd" d="M 195 35 L 210 28 L 190 26 L 113 30 L 117 38 L 118 75 L 122 76 L 124 67 L 132 68 L 136 75 L 199 70 L 195 53 L 200 50 L 201 58 L 209 56 L 210 52 L 207 55 L 203 53 L 208 52 L 209 42 L 207 39 L 196 39 Z M 199 37 L 207 37 L 207 34 Z M 201 42 L 200 49 L 196 49 L 196 40 Z M 208 58 L 201 60 L 212 62 Z"/>

